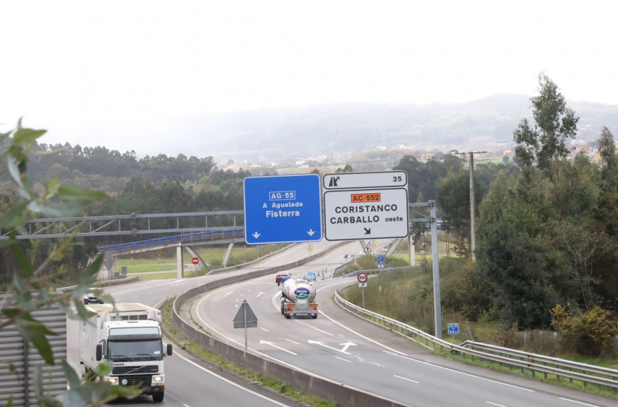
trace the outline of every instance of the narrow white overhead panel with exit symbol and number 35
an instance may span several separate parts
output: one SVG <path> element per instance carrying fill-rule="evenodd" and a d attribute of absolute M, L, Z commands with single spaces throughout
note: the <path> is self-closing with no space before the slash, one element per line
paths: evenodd
<path fill-rule="evenodd" d="M 336 173 L 324 175 L 324 189 L 396 188 L 408 185 L 405 171 Z"/>

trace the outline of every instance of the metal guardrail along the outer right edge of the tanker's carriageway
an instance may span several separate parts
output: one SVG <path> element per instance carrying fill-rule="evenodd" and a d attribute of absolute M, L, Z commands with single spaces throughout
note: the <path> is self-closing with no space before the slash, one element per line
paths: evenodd
<path fill-rule="evenodd" d="M 500 365 L 504 364 L 510 367 L 519 367 L 521 373 L 523 373 L 525 369 L 529 369 L 532 372 L 532 377 L 536 377 L 536 372 L 542 372 L 545 375 L 545 379 L 547 379 L 548 374 L 551 374 L 556 375 L 559 381 L 561 378 L 567 378 L 571 382 L 573 382 L 573 380 L 579 380 L 584 386 L 588 383 L 594 383 L 597 384 L 599 388 L 601 388 L 601 386 L 608 386 L 613 388 L 614 394 L 618 393 L 618 370 L 594 367 L 584 363 L 572 362 L 571 360 L 549 358 L 549 356 L 527 354 L 526 352 L 515 349 L 493 347 L 492 345 L 469 341 L 461 345 L 455 345 L 407 325 L 406 323 L 356 306 L 350 301 L 343 299 L 341 295 L 339 295 L 339 291 L 335 292 L 334 298 L 339 306 L 352 314 L 367 319 L 389 330 L 393 330 L 398 334 L 407 336 L 412 341 L 415 341 L 427 349 L 435 350 L 439 346 L 441 351 L 444 350 L 444 348 L 450 349 L 451 353 L 461 354 L 464 358 L 466 356 L 471 356 L 472 358 L 477 357 L 498 362 Z M 464 346 L 464 344 L 466 344 L 466 346 Z M 497 354 L 491 352 L 496 352 Z M 590 373 L 595 373 L 595 375 Z"/>

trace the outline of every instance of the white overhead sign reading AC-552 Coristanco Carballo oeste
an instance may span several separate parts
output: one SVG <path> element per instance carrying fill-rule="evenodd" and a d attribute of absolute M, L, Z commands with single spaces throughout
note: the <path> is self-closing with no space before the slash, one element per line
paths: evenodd
<path fill-rule="evenodd" d="M 407 237 L 408 190 L 329 190 L 324 214 L 327 240 Z"/>

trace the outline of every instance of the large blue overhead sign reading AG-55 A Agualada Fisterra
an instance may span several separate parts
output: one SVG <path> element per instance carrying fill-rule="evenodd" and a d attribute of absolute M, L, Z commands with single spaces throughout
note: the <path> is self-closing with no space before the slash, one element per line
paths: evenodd
<path fill-rule="evenodd" d="M 247 245 L 322 239 L 321 180 L 317 174 L 244 179 Z"/>

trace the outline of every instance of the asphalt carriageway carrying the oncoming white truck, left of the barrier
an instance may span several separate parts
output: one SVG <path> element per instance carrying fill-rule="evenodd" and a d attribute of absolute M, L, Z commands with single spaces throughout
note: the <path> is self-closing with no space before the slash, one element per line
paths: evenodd
<path fill-rule="evenodd" d="M 284 253 L 264 258 L 259 264 L 225 275 L 236 275 L 274 267 L 275 264 L 287 264 L 301 260 L 311 254 L 330 248 L 333 243 L 327 241 L 313 243 L 312 251 L 306 245 L 293 245 Z M 360 247 L 356 243 L 357 247 Z M 194 288 L 207 281 L 217 280 L 223 274 L 203 277 L 190 277 L 174 280 L 146 280 L 133 284 L 105 288 L 106 294 L 120 302 L 141 302 L 148 306 L 157 306 L 168 297 Z M 274 277 L 273 277 L 274 278 Z M 83 371 L 79 364 L 79 321 L 67 323 L 67 359 L 78 373 Z M 231 324 L 231 319 L 229 321 Z M 152 404 L 152 397 L 145 395 L 133 400 L 117 400 L 114 406 L 135 406 Z M 221 371 L 217 367 L 192 358 L 189 354 L 174 346 L 174 354 L 165 358 L 165 398 L 159 406 L 201 407 L 201 406 L 299 406 L 287 397 L 268 391 L 261 386 L 248 384 L 244 380 Z"/>

